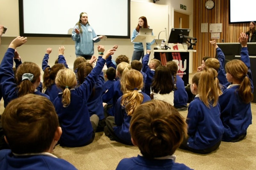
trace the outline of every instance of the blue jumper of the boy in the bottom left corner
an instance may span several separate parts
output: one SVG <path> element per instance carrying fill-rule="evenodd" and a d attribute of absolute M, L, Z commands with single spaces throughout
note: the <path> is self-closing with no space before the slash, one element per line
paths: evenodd
<path fill-rule="evenodd" d="M 50 153 L 38 153 L 34 155 L 14 156 L 10 149 L 0 151 L 0 170 L 76 170 L 76 167 L 64 159 L 57 158 Z"/>

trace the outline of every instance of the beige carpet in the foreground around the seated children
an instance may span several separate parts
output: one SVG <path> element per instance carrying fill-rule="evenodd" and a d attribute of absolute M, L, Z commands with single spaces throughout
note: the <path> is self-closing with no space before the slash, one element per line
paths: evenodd
<path fill-rule="evenodd" d="M 187 111 L 180 112 L 184 117 Z M 252 119 L 256 118 L 256 104 L 252 103 Z M 96 133 L 92 144 L 79 148 L 63 148 L 59 145 L 54 155 L 68 160 L 77 169 L 115 169 L 119 161 L 140 154 L 135 146 L 110 141 L 104 133 Z M 176 162 L 197 170 L 243 170 L 256 169 L 256 125 L 250 125 L 247 136 L 236 143 L 222 142 L 220 148 L 210 154 L 201 155 L 184 150 L 175 152 Z"/>

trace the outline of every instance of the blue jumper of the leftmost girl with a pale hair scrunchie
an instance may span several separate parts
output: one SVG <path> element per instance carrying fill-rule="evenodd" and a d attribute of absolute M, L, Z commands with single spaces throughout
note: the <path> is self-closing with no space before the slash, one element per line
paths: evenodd
<path fill-rule="evenodd" d="M 0 65 L 0 89 L 4 99 L 4 107 L 6 107 L 11 100 L 19 97 L 18 89 L 16 88 L 17 84 L 14 83 L 14 73 L 12 70 L 14 51 L 13 48 L 8 48 Z M 48 95 L 37 90 L 35 91 L 35 94 L 44 96 L 50 100 Z"/>

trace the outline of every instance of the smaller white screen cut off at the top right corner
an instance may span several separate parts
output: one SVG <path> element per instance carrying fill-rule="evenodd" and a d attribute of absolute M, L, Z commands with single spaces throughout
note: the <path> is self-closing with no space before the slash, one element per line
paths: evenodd
<path fill-rule="evenodd" d="M 256 21 L 255 0 L 229 0 L 229 23 Z"/>

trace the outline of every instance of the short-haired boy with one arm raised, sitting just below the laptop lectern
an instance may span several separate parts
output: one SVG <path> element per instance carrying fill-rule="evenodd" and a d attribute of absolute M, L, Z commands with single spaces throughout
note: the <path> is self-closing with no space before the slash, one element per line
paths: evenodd
<path fill-rule="evenodd" d="M 142 71 L 147 75 L 145 89 L 143 92 L 150 96 L 152 79 L 154 77 L 156 68 L 161 65 L 161 62 L 157 59 L 151 59 L 150 63 L 148 64 L 149 55 L 150 50 L 147 50 L 147 54 L 142 58 Z"/>

